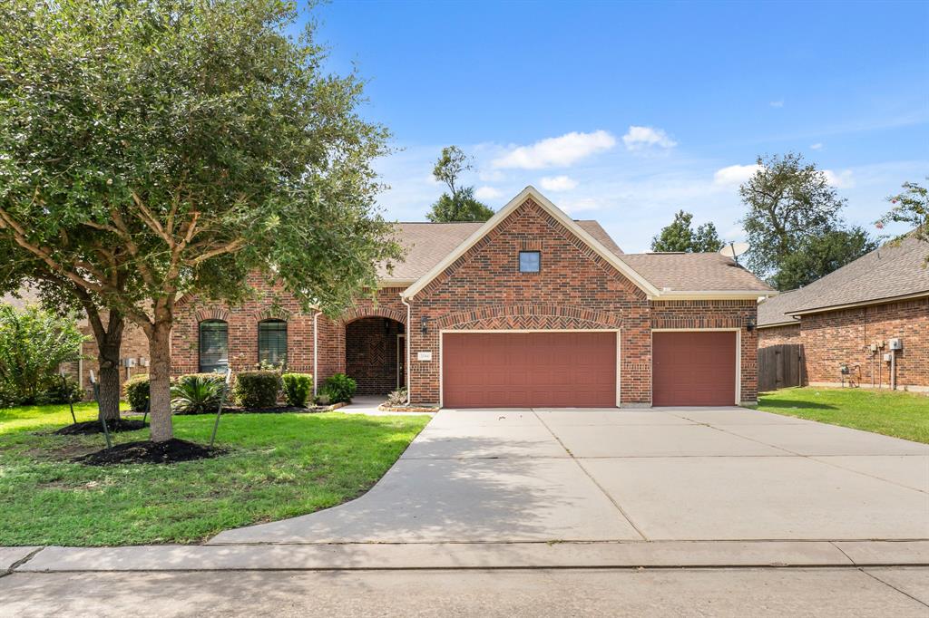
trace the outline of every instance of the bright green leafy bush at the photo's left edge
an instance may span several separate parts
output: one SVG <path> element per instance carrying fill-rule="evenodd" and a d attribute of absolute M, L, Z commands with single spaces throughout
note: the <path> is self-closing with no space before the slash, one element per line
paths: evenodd
<path fill-rule="evenodd" d="M 84 339 L 73 315 L 0 303 L 0 404 L 38 403 L 59 380 L 59 366 L 80 358 Z"/>

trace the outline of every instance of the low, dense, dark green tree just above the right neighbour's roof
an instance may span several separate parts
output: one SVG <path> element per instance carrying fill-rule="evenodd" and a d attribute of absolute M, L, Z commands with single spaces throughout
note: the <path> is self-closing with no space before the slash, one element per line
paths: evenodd
<path fill-rule="evenodd" d="M 796 290 L 876 248 L 877 242 L 857 226 L 805 237 L 797 250 L 781 261 L 778 272 L 768 282 L 778 290 Z"/>

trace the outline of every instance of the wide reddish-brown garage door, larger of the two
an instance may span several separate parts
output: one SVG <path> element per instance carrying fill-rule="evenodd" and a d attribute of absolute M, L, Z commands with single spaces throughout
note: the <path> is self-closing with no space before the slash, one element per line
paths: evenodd
<path fill-rule="evenodd" d="M 616 406 L 616 333 L 445 333 L 442 403 Z"/>

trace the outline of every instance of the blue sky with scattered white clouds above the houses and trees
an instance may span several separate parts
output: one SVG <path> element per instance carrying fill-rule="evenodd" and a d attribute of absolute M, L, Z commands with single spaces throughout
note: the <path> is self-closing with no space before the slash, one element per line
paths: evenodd
<path fill-rule="evenodd" d="M 334 0 L 315 14 L 329 68 L 369 81 L 362 112 L 394 135 L 377 163 L 391 219 L 425 218 L 450 144 L 494 209 L 534 185 L 624 251 L 647 251 L 678 209 L 741 238 L 739 182 L 759 154 L 817 162 L 869 226 L 929 175 L 926 2 Z"/>

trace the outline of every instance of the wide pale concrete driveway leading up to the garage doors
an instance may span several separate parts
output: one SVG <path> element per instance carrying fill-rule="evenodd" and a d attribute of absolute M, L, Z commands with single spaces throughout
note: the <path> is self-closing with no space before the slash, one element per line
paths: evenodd
<path fill-rule="evenodd" d="M 359 499 L 237 543 L 929 538 L 929 445 L 738 407 L 443 410 Z"/>

